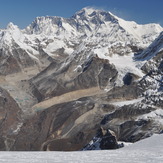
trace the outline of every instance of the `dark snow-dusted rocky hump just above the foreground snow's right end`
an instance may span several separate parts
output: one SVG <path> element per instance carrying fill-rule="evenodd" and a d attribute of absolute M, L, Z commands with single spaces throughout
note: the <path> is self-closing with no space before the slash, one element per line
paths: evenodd
<path fill-rule="evenodd" d="M 162 126 L 154 119 L 139 118 L 155 110 L 149 106 L 143 108 L 142 104 L 125 105 L 105 115 L 101 125 L 113 130 L 120 141 L 136 142 L 162 130 Z"/>

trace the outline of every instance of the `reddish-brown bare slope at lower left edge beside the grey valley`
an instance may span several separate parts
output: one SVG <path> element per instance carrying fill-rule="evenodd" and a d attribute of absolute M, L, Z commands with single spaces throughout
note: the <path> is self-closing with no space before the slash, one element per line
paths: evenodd
<path fill-rule="evenodd" d="M 0 88 L 0 150 L 10 150 L 22 125 L 16 102 Z"/>

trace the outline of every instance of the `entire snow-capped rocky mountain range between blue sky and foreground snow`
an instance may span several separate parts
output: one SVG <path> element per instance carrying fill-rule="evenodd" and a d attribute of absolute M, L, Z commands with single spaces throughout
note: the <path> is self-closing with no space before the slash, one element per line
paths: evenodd
<path fill-rule="evenodd" d="M 0 30 L 0 150 L 96 140 L 95 149 L 108 130 L 126 142 L 161 133 L 162 31 L 93 8 L 23 30 L 9 23 Z"/>

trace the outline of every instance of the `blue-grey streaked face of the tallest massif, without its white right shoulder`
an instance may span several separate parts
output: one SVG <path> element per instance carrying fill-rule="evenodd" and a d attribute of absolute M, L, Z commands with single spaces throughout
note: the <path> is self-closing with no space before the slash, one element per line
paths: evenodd
<path fill-rule="evenodd" d="M 53 34 L 67 37 L 89 35 L 106 22 L 116 23 L 109 12 L 94 8 L 83 8 L 71 18 L 56 16 L 37 17 L 27 28 L 28 34 Z M 109 28 L 109 27 L 108 27 Z"/>

